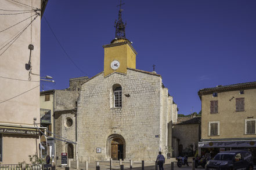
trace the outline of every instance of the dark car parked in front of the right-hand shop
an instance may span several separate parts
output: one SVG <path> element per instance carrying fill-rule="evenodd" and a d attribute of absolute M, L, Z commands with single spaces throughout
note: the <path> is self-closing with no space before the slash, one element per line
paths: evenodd
<path fill-rule="evenodd" d="M 206 170 L 253 170 L 253 155 L 246 150 L 230 150 L 218 153 L 207 162 Z"/>

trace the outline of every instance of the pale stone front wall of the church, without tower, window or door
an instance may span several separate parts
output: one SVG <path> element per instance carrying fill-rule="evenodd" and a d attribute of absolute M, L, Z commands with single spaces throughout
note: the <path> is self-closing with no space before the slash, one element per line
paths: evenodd
<path fill-rule="evenodd" d="M 114 84 L 122 87 L 122 108 L 113 107 Z M 166 120 L 171 117 L 167 91 L 160 76 L 129 69 L 127 75 L 100 73 L 82 84 L 77 110 L 79 157 L 110 158 L 111 135 L 124 138 L 125 160 L 154 161 L 160 149 L 166 154 Z"/>

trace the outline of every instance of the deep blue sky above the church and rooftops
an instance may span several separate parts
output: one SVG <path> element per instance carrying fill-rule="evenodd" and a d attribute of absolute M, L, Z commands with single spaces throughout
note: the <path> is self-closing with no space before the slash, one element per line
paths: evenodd
<path fill-rule="evenodd" d="M 103 71 L 103 47 L 115 37 L 118 0 L 49 0 L 41 21 L 41 75 L 63 89 L 73 77 Z M 199 112 L 201 88 L 254 82 L 256 1 L 127 0 L 122 19 L 126 36 L 138 51 L 136 68 L 163 77 L 180 114 Z M 42 90 L 41 88 L 41 90 Z"/>

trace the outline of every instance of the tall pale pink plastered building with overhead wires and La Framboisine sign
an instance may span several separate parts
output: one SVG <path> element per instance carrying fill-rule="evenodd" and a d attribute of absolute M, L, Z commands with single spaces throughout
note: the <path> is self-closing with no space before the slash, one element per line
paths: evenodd
<path fill-rule="evenodd" d="M 29 162 L 28 155 L 38 154 L 40 29 L 46 3 L 0 2 L 6 14 L 0 17 L 1 164 Z"/>

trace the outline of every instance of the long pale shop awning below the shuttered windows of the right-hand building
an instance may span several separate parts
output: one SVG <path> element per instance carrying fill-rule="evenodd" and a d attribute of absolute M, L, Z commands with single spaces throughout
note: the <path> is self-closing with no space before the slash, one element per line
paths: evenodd
<path fill-rule="evenodd" d="M 256 147 L 255 141 L 199 142 L 199 147 Z"/>

